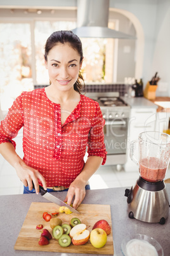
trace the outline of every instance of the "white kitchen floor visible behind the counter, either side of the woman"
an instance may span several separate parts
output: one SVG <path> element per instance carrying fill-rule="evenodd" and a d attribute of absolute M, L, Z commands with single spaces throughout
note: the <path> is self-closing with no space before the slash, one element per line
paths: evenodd
<path fill-rule="evenodd" d="M 138 171 L 117 171 L 116 166 L 101 166 L 90 178 L 91 189 L 131 187 L 138 179 Z M 166 178 L 170 178 L 170 166 L 167 169 Z M 23 185 L 15 169 L 0 155 L 0 195 L 22 194 Z"/>

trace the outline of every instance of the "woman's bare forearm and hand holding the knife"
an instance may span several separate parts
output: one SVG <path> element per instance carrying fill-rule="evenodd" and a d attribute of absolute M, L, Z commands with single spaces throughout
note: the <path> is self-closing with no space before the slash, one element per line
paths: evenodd
<path fill-rule="evenodd" d="M 44 177 L 37 171 L 36 169 L 27 166 L 25 162 L 17 155 L 15 152 L 15 148 L 12 143 L 1 143 L 0 144 L 0 153 L 3 155 L 4 159 L 6 159 L 11 166 L 13 166 L 16 170 L 16 174 L 23 182 L 25 187 L 29 186 L 29 190 L 32 190 L 32 181 L 34 182 L 34 186 L 36 189 L 36 193 L 39 193 L 39 182 L 42 182 L 44 189 L 46 189 L 46 180 Z"/>

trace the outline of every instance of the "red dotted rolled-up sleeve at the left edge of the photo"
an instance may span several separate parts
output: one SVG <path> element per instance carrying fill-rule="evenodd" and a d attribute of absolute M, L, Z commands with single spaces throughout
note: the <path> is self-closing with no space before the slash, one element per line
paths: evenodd
<path fill-rule="evenodd" d="M 10 142 L 16 147 L 13 138 L 16 137 L 18 131 L 23 126 L 23 109 L 22 109 L 22 96 L 19 96 L 14 101 L 13 105 L 8 111 L 8 114 L 1 121 L 0 125 L 0 144 Z"/>

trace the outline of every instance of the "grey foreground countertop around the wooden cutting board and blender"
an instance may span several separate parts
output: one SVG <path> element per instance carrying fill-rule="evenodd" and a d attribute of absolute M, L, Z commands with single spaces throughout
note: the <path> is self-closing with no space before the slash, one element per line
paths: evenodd
<path fill-rule="evenodd" d="M 133 185 L 133 184 L 132 184 Z M 166 185 L 170 198 L 170 184 Z M 112 215 L 112 232 L 114 239 L 114 255 L 121 256 L 122 239 L 129 233 L 141 233 L 152 236 L 164 250 L 164 256 L 170 255 L 170 211 L 166 224 L 148 224 L 139 220 L 130 219 L 127 212 L 127 197 L 124 196 L 126 188 L 107 188 L 100 190 L 87 190 L 84 204 L 110 204 Z M 57 197 L 64 199 L 67 192 L 57 193 Z M 22 227 L 23 221 L 29 211 L 32 202 L 49 202 L 41 195 L 23 194 L 12 196 L 0 196 L 1 205 L 1 234 L 0 252 L 2 256 L 8 255 L 66 255 L 65 253 L 33 252 L 14 250 L 15 242 Z M 70 255 L 82 255 L 67 253 Z M 83 255 L 90 255 L 84 253 Z M 93 254 L 94 255 L 94 254 Z M 97 255 L 97 254 L 96 254 Z"/>

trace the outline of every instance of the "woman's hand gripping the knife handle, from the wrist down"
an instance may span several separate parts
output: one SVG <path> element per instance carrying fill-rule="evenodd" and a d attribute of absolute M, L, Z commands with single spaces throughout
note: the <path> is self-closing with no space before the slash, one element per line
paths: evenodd
<path fill-rule="evenodd" d="M 42 174 L 39 173 L 39 171 L 30 166 L 27 166 L 27 164 L 25 164 L 22 159 L 20 159 L 20 161 L 17 162 L 14 167 L 16 169 L 16 174 L 22 181 L 23 185 L 25 187 L 29 186 L 29 190 L 33 189 L 33 182 L 36 194 L 39 194 L 39 181 L 41 181 L 42 187 L 46 190 L 46 180 Z"/>

